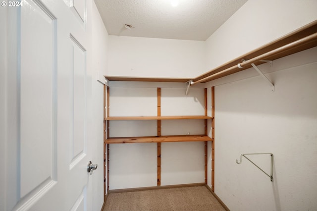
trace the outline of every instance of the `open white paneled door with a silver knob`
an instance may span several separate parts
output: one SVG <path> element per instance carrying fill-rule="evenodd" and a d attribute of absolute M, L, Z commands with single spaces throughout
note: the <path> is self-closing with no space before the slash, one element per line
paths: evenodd
<path fill-rule="evenodd" d="M 0 210 L 91 210 L 88 2 L 21 3 L 0 16 Z"/>

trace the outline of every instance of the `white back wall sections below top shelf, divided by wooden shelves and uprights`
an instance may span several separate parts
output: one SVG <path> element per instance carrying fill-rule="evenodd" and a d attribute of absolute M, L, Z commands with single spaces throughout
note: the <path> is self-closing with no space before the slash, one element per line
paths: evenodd
<path fill-rule="evenodd" d="M 204 115 L 204 89 L 185 83 L 111 82 L 110 116 Z M 174 87 L 174 88 L 171 88 Z M 204 120 L 162 120 L 161 135 L 204 134 Z M 110 137 L 157 136 L 156 120 L 110 121 Z M 110 144 L 109 189 L 157 186 L 157 144 Z M 161 144 L 161 185 L 205 181 L 204 142 Z"/>

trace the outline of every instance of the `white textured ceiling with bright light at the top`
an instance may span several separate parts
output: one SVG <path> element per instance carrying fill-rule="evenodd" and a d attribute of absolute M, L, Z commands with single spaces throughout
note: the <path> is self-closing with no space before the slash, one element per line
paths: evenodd
<path fill-rule="evenodd" d="M 95 0 L 109 35 L 201 41 L 246 1 Z"/>

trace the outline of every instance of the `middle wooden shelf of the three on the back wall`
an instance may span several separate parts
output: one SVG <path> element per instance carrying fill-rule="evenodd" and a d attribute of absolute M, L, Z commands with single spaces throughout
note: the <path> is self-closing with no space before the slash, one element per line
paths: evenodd
<path fill-rule="evenodd" d="M 211 116 L 108 116 L 105 120 L 212 119 Z"/>

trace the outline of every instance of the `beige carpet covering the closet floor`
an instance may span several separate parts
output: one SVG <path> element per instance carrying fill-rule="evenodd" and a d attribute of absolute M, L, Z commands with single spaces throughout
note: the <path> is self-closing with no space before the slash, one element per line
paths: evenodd
<path fill-rule="evenodd" d="M 104 211 L 225 211 L 205 186 L 110 193 Z"/>

